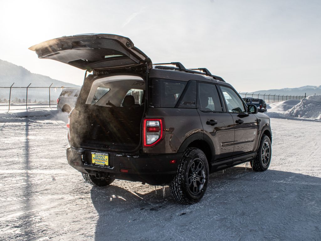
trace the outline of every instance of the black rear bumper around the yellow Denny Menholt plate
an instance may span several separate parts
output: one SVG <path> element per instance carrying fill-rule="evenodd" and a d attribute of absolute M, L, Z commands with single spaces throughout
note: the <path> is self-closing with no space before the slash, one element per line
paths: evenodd
<path fill-rule="evenodd" d="M 91 164 L 91 151 L 76 148 L 67 148 L 67 160 L 69 165 L 86 174 L 109 176 L 110 178 L 143 182 L 151 185 L 166 185 L 170 183 L 178 167 L 182 153 L 176 154 L 128 154 L 108 153 L 109 166 L 102 167 Z M 170 164 L 170 160 L 176 160 Z M 128 170 L 128 173 L 120 172 L 120 169 Z"/>

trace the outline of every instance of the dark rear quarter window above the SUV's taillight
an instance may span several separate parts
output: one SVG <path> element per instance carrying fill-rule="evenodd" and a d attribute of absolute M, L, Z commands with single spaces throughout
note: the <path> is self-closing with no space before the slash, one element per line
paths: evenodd
<path fill-rule="evenodd" d="M 187 82 L 170 79 L 152 79 L 150 84 L 150 107 L 175 107 Z"/>

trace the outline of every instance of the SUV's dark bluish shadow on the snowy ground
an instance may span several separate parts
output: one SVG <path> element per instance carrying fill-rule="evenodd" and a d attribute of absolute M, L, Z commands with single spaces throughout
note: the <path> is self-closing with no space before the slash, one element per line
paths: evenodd
<path fill-rule="evenodd" d="M 232 167 L 211 174 L 203 199 L 190 206 L 176 203 L 169 187 L 164 199 L 162 189 L 156 194 L 152 186 L 115 182 L 91 189 L 99 214 L 96 241 L 318 240 L 321 235 L 319 177 Z"/>

